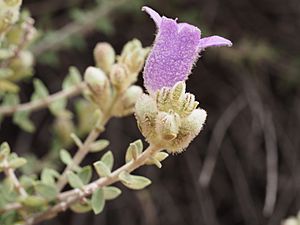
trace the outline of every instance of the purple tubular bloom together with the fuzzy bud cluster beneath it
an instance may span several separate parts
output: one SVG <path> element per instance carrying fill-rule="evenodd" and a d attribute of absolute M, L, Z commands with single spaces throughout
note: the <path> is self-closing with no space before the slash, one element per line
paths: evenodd
<path fill-rule="evenodd" d="M 232 43 L 219 36 L 201 38 L 193 25 L 161 17 L 149 7 L 142 10 L 154 20 L 158 33 L 144 67 L 149 94 L 137 100 L 135 117 L 149 143 L 180 153 L 199 134 L 207 116 L 195 96 L 186 92 L 185 80 L 202 50 Z"/>

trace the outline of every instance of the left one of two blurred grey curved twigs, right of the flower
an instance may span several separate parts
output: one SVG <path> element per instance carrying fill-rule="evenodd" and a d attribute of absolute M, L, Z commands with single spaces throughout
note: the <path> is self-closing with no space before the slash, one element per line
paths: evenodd
<path fill-rule="evenodd" d="M 208 144 L 207 156 L 198 180 L 200 185 L 203 187 L 207 187 L 210 183 L 210 179 L 217 161 L 219 148 L 223 142 L 226 130 L 229 128 L 234 118 L 236 118 L 236 116 L 246 107 L 246 105 L 247 104 L 244 97 L 238 96 L 228 106 L 216 123 L 212 138 Z"/>

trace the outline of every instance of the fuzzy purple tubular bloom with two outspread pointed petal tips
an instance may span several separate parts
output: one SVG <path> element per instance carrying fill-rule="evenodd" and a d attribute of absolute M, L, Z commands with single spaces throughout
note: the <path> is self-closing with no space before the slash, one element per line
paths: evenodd
<path fill-rule="evenodd" d="M 201 38 L 199 28 L 161 17 L 149 7 L 144 6 L 142 10 L 151 16 L 158 28 L 144 68 L 144 85 L 150 93 L 186 80 L 199 53 L 205 48 L 232 45 L 231 41 L 220 36 Z"/>

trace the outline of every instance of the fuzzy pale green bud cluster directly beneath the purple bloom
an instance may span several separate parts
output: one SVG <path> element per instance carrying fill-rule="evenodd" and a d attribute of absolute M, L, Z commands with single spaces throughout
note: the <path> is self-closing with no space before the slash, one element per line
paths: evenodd
<path fill-rule="evenodd" d="M 139 129 L 151 144 L 170 153 L 182 152 L 199 134 L 206 112 L 197 108 L 195 96 L 186 93 L 184 82 L 142 95 L 135 107 Z"/>

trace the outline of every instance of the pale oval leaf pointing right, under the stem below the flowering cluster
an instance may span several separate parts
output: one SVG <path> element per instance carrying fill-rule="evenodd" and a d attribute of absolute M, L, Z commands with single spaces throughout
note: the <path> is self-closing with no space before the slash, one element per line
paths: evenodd
<path fill-rule="evenodd" d="M 128 188 L 140 190 L 151 184 L 151 180 L 143 176 L 131 175 L 127 171 L 123 171 L 119 175 L 120 181 Z"/>

